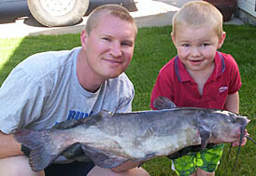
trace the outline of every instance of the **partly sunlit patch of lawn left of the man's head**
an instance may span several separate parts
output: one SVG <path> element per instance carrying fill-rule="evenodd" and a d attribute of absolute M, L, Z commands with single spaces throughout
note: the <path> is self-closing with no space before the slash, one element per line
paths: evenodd
<path fill-rule="evenodd" d="M 27 57 L 50 50 L 67 50 L 80 46 L 79 34 L 0 38 L 0 86 L 11 70 Z"/>

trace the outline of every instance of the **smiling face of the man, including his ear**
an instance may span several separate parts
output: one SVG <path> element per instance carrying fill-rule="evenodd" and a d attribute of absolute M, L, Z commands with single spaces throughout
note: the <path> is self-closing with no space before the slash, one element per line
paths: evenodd
<path fill-rule="evenodd" d="M 134 23 L 110 14 L 99 19 L 91 34 L 83 31 L 82 49 L 89 73 L 108 79 L 124 72 L 133 58 L 135 34 Z"/>

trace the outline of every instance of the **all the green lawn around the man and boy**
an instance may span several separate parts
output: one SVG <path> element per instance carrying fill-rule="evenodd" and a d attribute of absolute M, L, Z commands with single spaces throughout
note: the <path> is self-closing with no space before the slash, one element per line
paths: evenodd
<path fill-rule="evenodd" d="M 239 90 L 240 114 L 251 119 L 248 127 L 250 137 L 256 140 L 256 28 L 252 26 L 224 25 L 226 40 L 220 51 L 234 56 L 243 82 Z M 141 28 L 135 43 L 134 59 L 126 74 L 135 85 L 133 111 L 149 110 L 151 88 L 163 65 L 176 55 L 170 38 L 171 27 Z M 29 36 L 24 38 L 0 39 L 0 85 L 20 61 L 37 52 L 62 50 L 78 47 L 79 34 L 59 36 Z M 255 175 L 256 146 L 248 142 L 242 147 L 235 164 L 237 147 L 229 156 L 228 145 L 220 160 L 216 175 Z M 175 175 L 171 162 L 166 157 L 154 158 L 142 166 L 150 175 Z"/>

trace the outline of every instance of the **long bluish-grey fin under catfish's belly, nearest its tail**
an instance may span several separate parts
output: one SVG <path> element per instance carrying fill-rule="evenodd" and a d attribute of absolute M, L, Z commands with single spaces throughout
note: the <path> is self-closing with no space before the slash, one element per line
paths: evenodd
<path fill-rule="evenodd" d="M 115 156 L 107 154 L 107 152 L 92 148 L 90 146 L 82 145 L 82 149 L 86 156 L 89 156 L 93 163 L 101 168 L 115 168 L 128 161 L 122 156 Z"/>

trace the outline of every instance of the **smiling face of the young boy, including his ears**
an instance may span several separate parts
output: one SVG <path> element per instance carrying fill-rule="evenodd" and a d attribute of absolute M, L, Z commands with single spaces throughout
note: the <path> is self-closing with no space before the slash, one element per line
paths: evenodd
<path fill-rule="evenodd" d="M 218 48 L 225 39 L 225 33 L 219 37 L 215 30 L 208 26 L 191 27 L 179 25 L 176 36 L 172 35 L 178 58 L 190 72 L 205 71 L 212 68 Z"/>

